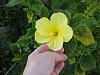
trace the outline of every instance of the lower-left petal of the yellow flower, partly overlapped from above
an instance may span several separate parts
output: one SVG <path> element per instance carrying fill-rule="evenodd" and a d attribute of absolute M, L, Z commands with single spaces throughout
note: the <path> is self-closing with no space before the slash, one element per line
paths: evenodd
<path fill-rule="evenodd" d="M 46 43 L 51 40 L 51 37 L 43 36 L 43 35 L 39 34 L 38 31 L 36 31 L 35 32 L 35 40 L 38 43 Z"/>

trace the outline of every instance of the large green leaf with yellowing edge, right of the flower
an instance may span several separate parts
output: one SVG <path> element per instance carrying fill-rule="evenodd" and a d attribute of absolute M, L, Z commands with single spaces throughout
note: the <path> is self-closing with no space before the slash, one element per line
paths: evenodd
<path fill-rule="evenodd" d="M 85 45 L 95 43 L 92 32 L 86 25 L 79 26 L 74 31 L 74 37 Z"/>

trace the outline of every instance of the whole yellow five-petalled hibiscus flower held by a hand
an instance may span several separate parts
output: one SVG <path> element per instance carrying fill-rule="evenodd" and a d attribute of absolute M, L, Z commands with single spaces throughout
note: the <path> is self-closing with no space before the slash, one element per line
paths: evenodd
<path fill-rule="evenodd" d="M 47 43 L 48 47 L 57 51 L 73 36 L 73 30 L 68 25 L 67 17 L 61 13 L 54 13 L 50 20 L 43 17 L 36 21 L 35 40 L 38 43 Z"/>

